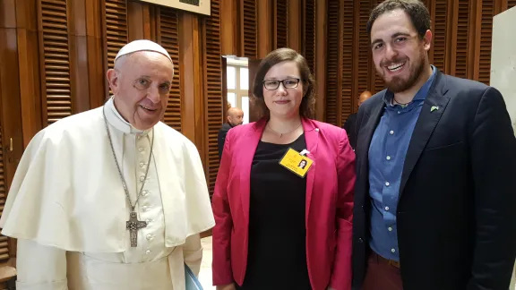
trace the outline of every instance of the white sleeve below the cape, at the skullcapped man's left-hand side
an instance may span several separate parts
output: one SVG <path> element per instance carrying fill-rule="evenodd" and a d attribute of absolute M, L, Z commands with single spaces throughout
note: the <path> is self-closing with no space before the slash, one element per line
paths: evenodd
<path fill-rule="evenodd" d="M 30 240 L 18 240 L 17 290 L 67 290 L 66 252 Z"/>

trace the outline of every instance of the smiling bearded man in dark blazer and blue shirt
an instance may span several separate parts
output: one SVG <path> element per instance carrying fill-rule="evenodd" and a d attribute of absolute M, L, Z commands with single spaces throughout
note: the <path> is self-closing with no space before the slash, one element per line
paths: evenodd
<path fill-rule="evenodd" d="M 367 23 L 387 90 L 357 115 L 354 286 L 507 290 L 516 139 L 503 97 L 428 60 L 430 13 L 387 0 Z"/>

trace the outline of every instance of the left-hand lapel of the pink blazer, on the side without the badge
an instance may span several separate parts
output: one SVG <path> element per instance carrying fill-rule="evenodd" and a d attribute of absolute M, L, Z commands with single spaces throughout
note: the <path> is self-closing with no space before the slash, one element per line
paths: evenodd
<path fill-rule="evenodd" d="M 256 122 L 245 132 L 243 142 L 239 144 L 241 147 L 237 162 L 241 165 L 240 181 L 240 199 L 242 201 L 242 210 L 244 211 L 245 225 L 249 225 L 249 199 L 251 194 L 251 166 L 253 165 L 254 153 L 258 147 L 258 142 L 262 138 L 262 132 L 265 128 L 265 120 Z"/>

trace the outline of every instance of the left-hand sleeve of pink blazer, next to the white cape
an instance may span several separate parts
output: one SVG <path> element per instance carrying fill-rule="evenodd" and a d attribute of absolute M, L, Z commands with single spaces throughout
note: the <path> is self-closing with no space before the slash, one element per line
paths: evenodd
<path fill-rule="evenodd" d="M 215 226 L 212 230 L 212 278 L 213 285 L 221 286 L 233 283 L 233 274 L 231 270 L 231 229 L 233 227 L 233 219 L 229 210 L 228 202 L 228 175 L 231 166 L 232 156 L 232 138 L 233 134 L 229 130 L 222 151 L 220 160 L 219 173 L 215 182 L 215 190 L 211 199 L 213 215 L 215 217 Z"/>

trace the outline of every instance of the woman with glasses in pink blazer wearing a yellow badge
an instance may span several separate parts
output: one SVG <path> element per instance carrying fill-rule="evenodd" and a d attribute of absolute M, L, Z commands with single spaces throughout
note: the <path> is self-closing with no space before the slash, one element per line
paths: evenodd
<path fill-rule="evenodd" d="M 228 132 L 215 184 L 213 284 L 348 290 L 355 155 L 347 134 L 310 119 L 314 78 L 292 49 L 262 60 L 253 93 L 262 119 Z"/>

